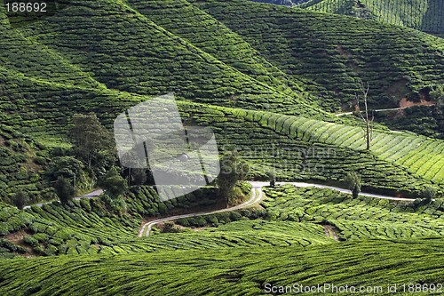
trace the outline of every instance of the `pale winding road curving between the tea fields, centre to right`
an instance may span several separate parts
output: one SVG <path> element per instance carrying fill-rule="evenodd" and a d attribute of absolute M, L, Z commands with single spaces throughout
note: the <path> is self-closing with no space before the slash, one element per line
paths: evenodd
<path fill-rule="evenodd" d="M 163 223 L 163 222 L 167 222 L 170 220 L 178 220 L 181 218 L 205 216 L 205 215 L 210 215 L 210 214 L 214 214 L 214 213 L 218 213 L 218 212 L 231 212 L 231 211 L 246 208 L 252 204 L 257 204 L 258 202 L 260 202 L 260 200 L 262 199 L 262 196 L 263 196 L 261 188 L 270 185 L 270 183 L 269 182 L 259 182 L 259 181 L 249 181 L 249 183 L 252 185 L 253 188 L 251 189 L 252 195 L 251 195 L 251 198 L 248 202 L 245 202 L 243 204 L 238 204 L 234 207 L 226 208 L 226 209 L 222 209 L 222 210 L 218 210 L 218 211 L 195 212 L 195 213 L 189 213 L 189 214 L 184 214 L 184 215 L 177 215 L 177 216 L 171 216 L 171 217 L 161 218 L 161 219 L 157 219 L 157 220 L 152 220 L 150 222 L 147 222 L 146 224 L 144 224 L 142 226 L 142 228 L 140 228 L 139 237 L 144 236 L 144 233 L 146 233 L 146 236 L 149 236 L 149 233 L 151 232 L 151 228 L 153 228 L 158 223 Z M 337 187 L 333 187 L 333 186 L 321 185 L 321 184 L 313 184 L 313 183 L 305 183 L 305 182 L 276 182 L 276 185 L 285 185 L 285 184 L 290 184 L 290 185 L 293 185 L 297 188 L 307 188 L 307 187 L 329 188 L 329 189 L 336 190 L 336 191 L 339 191 L 342 193 L 352 194 L 351 190 L 347 190 L 344 188 L 337 188 Z M 258 189 L 258 194 L 256 193 L 256 191 L 257 191 L 256 189 Z M 390 200 L 406 201 L 406 202 L 413 202 L 415 200 L 413 198 L 381 196 L 381 195 L 375 195 L 375 194 L 365 193 L 365 192 L 361 192 L 360 196 L 369 196 L 369 197 L 373 197 L 373 198 L 390 199 Z"/>

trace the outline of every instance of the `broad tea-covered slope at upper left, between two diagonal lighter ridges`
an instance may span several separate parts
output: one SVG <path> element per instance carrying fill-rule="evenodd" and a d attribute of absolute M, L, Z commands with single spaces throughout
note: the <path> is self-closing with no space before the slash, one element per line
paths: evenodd
<path fill-rule="evenodd" d="M 123 2 L 71 1 L 67 9 L 21 32 L 111 89 L 143 95 L 175 92 L 187 100 L 243 108 L 270 104 L 287 112 L 297 109 L 295 98 L 227 66 Z"/>

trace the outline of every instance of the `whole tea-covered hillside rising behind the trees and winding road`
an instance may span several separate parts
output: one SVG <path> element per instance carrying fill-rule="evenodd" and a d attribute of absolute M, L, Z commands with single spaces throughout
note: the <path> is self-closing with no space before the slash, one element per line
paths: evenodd
<path fill-rule="evenodd" d="M 255 17 L 243 21 L 249 16 L 246 10 Z M 323 23 L 329 27 L 319 30 Z M 267 29 L 258 30 L 264 25 Z M 369 188 L 416 192 L 431 182 L 442 183 L 440 140 L 378 126 L 368 153 L 363 151 L 361 127 L 350 126 L 361 125 L 358 121 L 331 116 L 317 105 L 337 109 L 350 103 L 359 80 L 369 81 L 370 99 L 377 106 L 396 104 L 416 92 L 426 96 L 424 85 L 442 83 L 442 43 L 437 38 L 318 12 L 284 7 L 270 12 L 266 4 L 239 1 L 73 2 L 16 29 L 3 16 L 1 29 L 7 38 L 0 53 L 2 123 L 44 149 L 69 145 L 67 126 L 76 112 L 96 112 L 111 124 L 123 109 L 148 100 L 146 95 L 176 91 L 185 116 L 212 126 L 226 148 L 244 151 L 255 168 L 252 178 L 265 177 L 278 164 L 285 180 L 340 182 L 353 168 L 366 176 L 363 182 Z M 319 38 L 309 41 L 315 30 Z M 131 37 L 125 38 L 130 31 Z M 367 31 L 373 35 L 361 46 Z M 422 47 L 414 47 L 418 43 Z M 412 64 L 411 57 L 417 63 Z M 391 79 L 380 78 L 389 75 Z M 249 129 L 256 129 L 257 137 L 266 136 L 251 139 Z M 289 155 L 270 158 L 270 140 Z M 304 159 L 302 152 L 313 145 L 334 149 L 335 154 Z M 249 150 L 258 153 L 249 156 Z M 28 162 L 36 158 L 33 154 L 28 154 Z M 313 169 L 316 162 L 321 170 L 305 170 L 305 164 Z M 343 168 L 338 170 L 338 164 Z M 7 165 L 4 172 L 11 170 Z M 31 178 L 22 179 L 26 184 Z M 44 197 L 33 199 L 39 198 Z"/>

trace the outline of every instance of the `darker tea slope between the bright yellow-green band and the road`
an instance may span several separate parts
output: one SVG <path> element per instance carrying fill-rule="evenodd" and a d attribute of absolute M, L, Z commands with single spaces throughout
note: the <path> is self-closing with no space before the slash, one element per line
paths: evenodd
<path fill-rule="evenodd" d="M 267 179 L 267 173 L 275 170 L 281 180 L 341 182 L 347 172 L 359 171 L 364 186 L 373 190 L 408 192 L 419 190 L 429 183 L 364 150 L 356 151 L 345 146 L 338 148 L 307 137 L 301 140 L 294 133 L 279 134 L 275 131 L 280 131 L 281 127 L 276 129 L 276 125 L 271 124 L 282 117 L 277 125 L 287 128 L 296 117 L 197 104 L 179 106 L 184 110 L 187 122 L 210 126 L 216 132 L 220 150 L 240 151 L 250 164 L 249 178 Z M 270 124 L 265 121 L 268 116 L 273 116 L 269 119 Z"/>

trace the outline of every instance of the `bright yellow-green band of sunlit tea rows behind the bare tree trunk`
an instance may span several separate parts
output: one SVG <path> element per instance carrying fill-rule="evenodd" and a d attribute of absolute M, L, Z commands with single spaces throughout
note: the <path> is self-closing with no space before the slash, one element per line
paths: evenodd
<path fill-rule="evenodd" d="M 333 124 L 305 117 L 277 116 L 272 113 L 231 111 L 272 128 L 277 132 L 305 141 L 335 147 L 364 150 L 364 130 L 344 124 Z M 387 163 L 405 168 L 417 178 L 444 183 L 444 142 L 403 132 L 373 132 L 370 151 Z"/>

